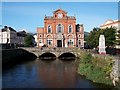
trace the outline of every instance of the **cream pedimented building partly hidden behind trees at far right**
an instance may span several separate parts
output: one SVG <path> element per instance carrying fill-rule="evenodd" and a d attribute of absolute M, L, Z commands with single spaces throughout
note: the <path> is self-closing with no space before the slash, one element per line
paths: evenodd
<path fill-rule="evenodd" d="M 110 19 L 108 19 L 104 24 L 102 24 L 100 26 L 101 29 L 104 29 L 104 28 L 107 28 L 107 27 L 108 28 L 114 27 L 114 28 L 116 28 L 117 31 L 120 30 L 120 20 L 110 20 Z M 117 36 L 116 36 L 116 39 L 118 40 Z M 120 45 L 116 45 L 116 48 L 120 49 Z"/>

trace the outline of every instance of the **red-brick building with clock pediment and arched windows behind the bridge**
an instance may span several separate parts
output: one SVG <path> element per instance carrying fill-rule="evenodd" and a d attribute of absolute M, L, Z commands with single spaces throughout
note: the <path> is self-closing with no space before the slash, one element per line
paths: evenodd
<path fill-rule="evenodd" d="M 37 45 L 41 47 L 84 47 L 84 28 L 76 28 L 76 17 L 58 9 L 53 16 L 45 16 L 44 27 L 37 28 Z"/>

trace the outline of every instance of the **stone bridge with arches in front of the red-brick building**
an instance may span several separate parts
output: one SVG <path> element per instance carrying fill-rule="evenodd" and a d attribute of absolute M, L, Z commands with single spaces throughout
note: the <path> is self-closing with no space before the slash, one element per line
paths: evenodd
<path fill-rule="evenodd" d="M 28 48 L 28 47 L 22 47 L 21 49 L 24 49 L 30 53 L 35 54 L 37 57 L 45 54 L 45 53 L 52 53 L 54 54 L 57 58 L 59 56 L 61 56 L 62 54 L 65 53 L 71 53 L 73 55 L 75 55 L 75 57 L 79 57 L 79 52 L 80 49 L 79 48 L 37 48 L 37 47 L 33 47 L 33 48 Z"/>

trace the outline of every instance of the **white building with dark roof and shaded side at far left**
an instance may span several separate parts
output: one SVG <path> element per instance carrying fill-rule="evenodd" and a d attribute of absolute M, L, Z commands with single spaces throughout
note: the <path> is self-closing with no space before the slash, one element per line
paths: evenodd
<path fill-rule="evenodd" d="M 4 47 L 7 46 L 24 46 L 25 31 L 16 32 L 13 28 L 5 26 L 0 30 L 0 44 Z"/>

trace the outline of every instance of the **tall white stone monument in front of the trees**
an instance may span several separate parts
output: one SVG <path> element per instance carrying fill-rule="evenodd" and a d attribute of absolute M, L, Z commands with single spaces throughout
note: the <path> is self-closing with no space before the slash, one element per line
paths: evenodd
<path fill-rule="evenodd" d="M 99 54 L 106 54 L 104 35 L 100 35 L 100 37 L 99 37 Z"/>

